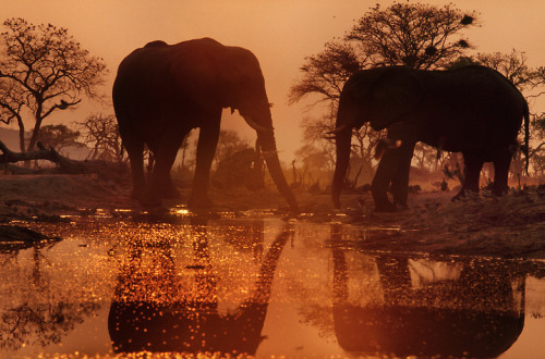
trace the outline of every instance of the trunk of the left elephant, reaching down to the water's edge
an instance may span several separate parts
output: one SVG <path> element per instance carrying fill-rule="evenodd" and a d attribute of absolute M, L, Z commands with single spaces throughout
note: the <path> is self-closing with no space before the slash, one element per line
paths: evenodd
<path fill-rule="evenodd" d="M 276 149 L 276 141 L 272 132 L 257 132 L 257 138 L 262 146 L 263 156 L 267 168 L 269 170 L 272 181 L 280 191 L 280 194 L 286 198 L 290 208 L 293 212 L 299 213 L 299 205 L 293 196 L 293 193 L 283 176 L 282 168 L 280 166 L 280 160 L 278 159 L 278 152 Z"/>

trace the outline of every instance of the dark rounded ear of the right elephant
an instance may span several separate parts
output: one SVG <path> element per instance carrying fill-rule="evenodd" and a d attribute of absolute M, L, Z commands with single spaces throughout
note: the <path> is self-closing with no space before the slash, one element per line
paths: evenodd
<path fill-rule="evenodd" d="M 407 121 L 423 99 L 417 72 L 408 67 L 390 67 L 371 87 L 368 120 L 373 129 L 383 129 Z"/>

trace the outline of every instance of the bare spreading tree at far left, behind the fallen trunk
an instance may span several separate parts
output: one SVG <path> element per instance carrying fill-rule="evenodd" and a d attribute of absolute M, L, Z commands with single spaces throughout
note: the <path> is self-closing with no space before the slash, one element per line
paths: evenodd
<path fill-rule="evenodd" d="M 3 23 L 0 34 L 0 121 L 15 120 L 21 151 L 31 151 L 43 121 L 58 110 L 73 108 L 82 96 L 98 98 L 97 86 L 107 73 L 101 59 L 82 49 L 65 28 L 33 25 L 23 18 Z M 25 147 L 24 117 L 34 120 Z"/>

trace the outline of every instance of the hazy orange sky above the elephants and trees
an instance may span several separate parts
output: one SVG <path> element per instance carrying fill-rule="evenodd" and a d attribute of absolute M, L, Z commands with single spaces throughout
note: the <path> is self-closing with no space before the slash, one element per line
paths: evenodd
<path fill-rule="evenodd" d="M 324 44 L 342 36 L 376 0 L 0 0 L 3 18 L 23 17 L 34 24 L 65 27 L 89 50 L 101 57 L 110 74 L 105 91 L 110 94 L 119 62 L 147 41 L 179 42 L 213 37 L 225 45 L 252 50 L 262 64 L 277 145 L 284 161 L 300 147 L 300 121 L 305 104 L 288 106 L 288 92 L 299 76 L 305 55 L 323 50 Z M 420 1 L 426 3 L 426 1 Z M 428 1 L 455 3 L 462 11 L 480 13 L 481 27 L 467 35 L 479 52 L 524 51 L 532 66 L 545 65 L 545 1 L 463 0 Z M 2 18 L 2 20 L 3 20 Z M 83 121 L 90 112 L 111 108 L 82 104 L 78 110 L 49 119 L 48 123 Z M 240 128 L 255 138 L 239 117 L 225 119 L 227 128 Z"/>

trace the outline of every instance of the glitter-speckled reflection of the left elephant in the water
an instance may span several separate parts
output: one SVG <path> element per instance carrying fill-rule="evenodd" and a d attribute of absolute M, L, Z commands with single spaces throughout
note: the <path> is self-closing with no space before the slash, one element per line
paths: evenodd
<path fill-rule="evenodd" d="M 233 313 L 220 314 L 207 227 L 193 227 L 194 263 L 185 268 L 185 273 L 175 268 L 168 246 L 132 248 L 129 263 L 120 272 L 108 318 L 117 352 L 254 355 L 257 350 L 288 231 L 278 235 L 263 259 L 253 294 Z M 180 285 L 178 278 L 182 275 L 193 277 L 190 287 Z"/>

